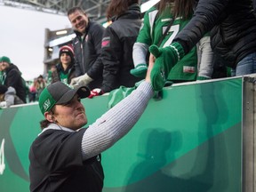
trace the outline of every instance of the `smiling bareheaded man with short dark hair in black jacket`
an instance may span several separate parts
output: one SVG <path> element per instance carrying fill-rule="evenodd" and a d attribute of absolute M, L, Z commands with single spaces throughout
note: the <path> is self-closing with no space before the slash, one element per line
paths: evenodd
<path fill-rule="evenodd" d="M 76 76 L 82 76 L 93 70 L 94 64 L 99 62 L 101 39 L 104 28 L 87 17 L 80 7 L 68 10 L 68 20 L 74 28 L 76 38 L 73 47 L 76 58 Z M 88 84 L 90 89 L 100 87 L 102 84 L 102 70 L 100 77 Z"/>

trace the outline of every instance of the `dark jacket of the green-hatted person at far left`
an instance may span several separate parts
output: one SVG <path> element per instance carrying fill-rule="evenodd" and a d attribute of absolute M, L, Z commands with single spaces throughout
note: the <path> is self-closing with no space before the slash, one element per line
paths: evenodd
<path fill-rule="evenodd" d="M 27 103 L 25 82 L 21 77 L 19 68 L 13 64 L 10 64 L 10 67 L 5 69 L 5 73 L 6 77 L 4 80 L 4 85 L 7 87 L 12 86 L 20 100 Z"/>

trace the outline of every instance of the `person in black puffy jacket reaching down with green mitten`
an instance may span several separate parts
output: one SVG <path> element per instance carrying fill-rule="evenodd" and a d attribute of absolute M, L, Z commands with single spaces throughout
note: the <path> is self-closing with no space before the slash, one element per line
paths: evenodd
<path fill-rule="evenodd" d="M 208 31 L 213 52 L 236 70 L 236 76 L 256 72 L 256 18 L 252 0 L 199 0 L 194 17 L 170 46 L 149 48 L 156 56 L 151 76 L 155 90 L 163 88 L 168 71 Z"/>

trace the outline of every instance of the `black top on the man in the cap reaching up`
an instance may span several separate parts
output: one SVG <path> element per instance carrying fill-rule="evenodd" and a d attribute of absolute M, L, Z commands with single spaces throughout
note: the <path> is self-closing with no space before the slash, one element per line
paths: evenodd
<path fill-rule="evenodd" d="M 85 130 L 49 129 L 33 141 L 29 150 L 31 192 L 102 191 L 101 156 L 82 159 L 81 141 Z"/>

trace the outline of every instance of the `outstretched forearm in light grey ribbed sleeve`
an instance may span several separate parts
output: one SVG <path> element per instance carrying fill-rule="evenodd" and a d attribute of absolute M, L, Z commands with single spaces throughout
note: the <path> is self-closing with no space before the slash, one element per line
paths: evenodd
<path fill-rule="evenodd" d="M 88 159 L 100 154 L 129 132 L 139 120 L 153 94 L 152 85 L 143 82 L 131 95 L 90 125 L 82 140 L 83 158 Z"/>

